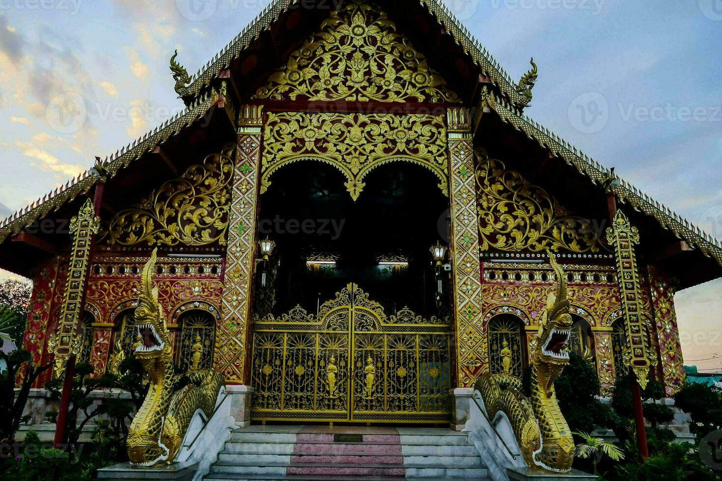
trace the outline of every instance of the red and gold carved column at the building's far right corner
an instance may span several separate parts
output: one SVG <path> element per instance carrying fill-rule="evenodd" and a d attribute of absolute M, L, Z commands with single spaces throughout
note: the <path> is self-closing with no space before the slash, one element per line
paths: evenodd
<path fill-rule="evenodd" d="M 654 325 L 659 340 L 664 389 L 671 396 L 684 385 L 684 361 L 679 343 L 677 312 L 674 310 L 674 285 L 650 268 Z"/>

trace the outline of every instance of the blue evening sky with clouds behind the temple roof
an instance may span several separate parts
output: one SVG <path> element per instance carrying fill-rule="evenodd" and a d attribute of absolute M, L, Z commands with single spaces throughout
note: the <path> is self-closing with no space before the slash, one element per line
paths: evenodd
<path fill-rule="evenodd" d="M 444 1 L 512 78 L 534 57 L 531 118 L 722 238 L 718 0 Z M 0 0 L 0 217 L 181 110 L 173 51 L 192 74 L 266 4 Z M 676 296 L 687 363 L 722 354 L 721 288 Z"/>

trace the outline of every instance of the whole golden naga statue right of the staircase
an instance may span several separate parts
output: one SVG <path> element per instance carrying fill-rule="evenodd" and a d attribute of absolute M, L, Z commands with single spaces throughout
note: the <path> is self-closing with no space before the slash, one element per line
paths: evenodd
<path fill-rule="evenodd" d="M 572 327 L 564 271 L 549 252 L 559 291 L 549 294 L 539 331 L 531 341 L 531 400 L 523 394 L 521 379 L 508 374 L 482 375 L 476 389 L 482 394 L 490 419 L 504 412 L 527 466 L 544 472 L 569 472 L 574 440 L 557 403 L 554 379 L 569 363 L 567 338 Z"/>

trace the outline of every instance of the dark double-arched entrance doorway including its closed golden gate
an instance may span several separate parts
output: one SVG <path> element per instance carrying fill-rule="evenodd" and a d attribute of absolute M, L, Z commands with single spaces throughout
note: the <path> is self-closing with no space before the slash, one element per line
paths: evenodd
<path fill-rule="evenodd" d="M 430 252 L 448 198 L 404 162 L 365 182 L 354 201 L 336 169 L 300 162 L 261 195 L 276 247 L 256 277 L 255 420 L 448 420 L 448 278 Z"/>

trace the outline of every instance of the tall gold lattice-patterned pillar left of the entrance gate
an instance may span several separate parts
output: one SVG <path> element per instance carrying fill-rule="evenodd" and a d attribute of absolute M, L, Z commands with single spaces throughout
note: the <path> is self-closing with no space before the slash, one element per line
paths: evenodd
<path fill-rule="evenodd" d="M 248 381 L 248 325 L 256 258 L 256 215 L 261 160 L 262 106 L 244 105 L 238 122 L 221 321 L 215 347 L 215 369 L 228 384 Z"/>

